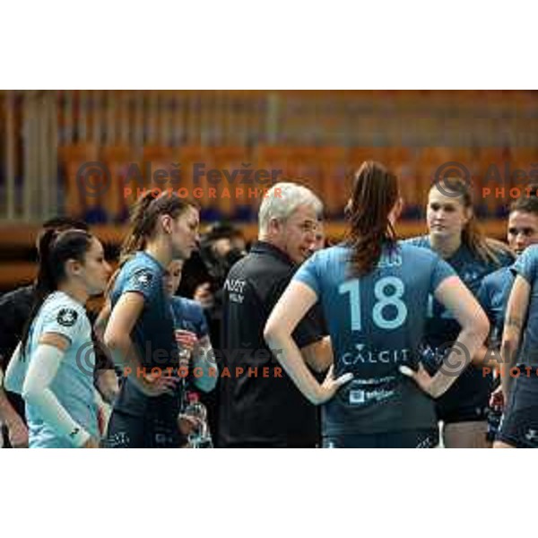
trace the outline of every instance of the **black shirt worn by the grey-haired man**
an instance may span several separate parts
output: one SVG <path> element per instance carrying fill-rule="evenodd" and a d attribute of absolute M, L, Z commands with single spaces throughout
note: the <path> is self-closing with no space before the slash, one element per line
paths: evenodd
<path fill-rule="evenodd" d="M 265 344 L 264 328 L 297 270 L 279 248 L 258 241 L 224 283 L 221 328 L 221 447 L 313 447 L 317 408 L 287 376 Z M 299 348 L 324 336 L 317 308 L 293 339 Z"/>

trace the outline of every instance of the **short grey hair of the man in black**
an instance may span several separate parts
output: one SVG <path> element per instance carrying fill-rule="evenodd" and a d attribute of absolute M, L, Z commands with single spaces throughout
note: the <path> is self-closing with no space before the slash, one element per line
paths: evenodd
<path fill-rule="evenodd" d="M 299 207 L 306 205 L 314 209 L 317 218 L 321 219 L 323 204 L 309 188 L 297 183 L 280 182 L 265 193 L 258 212 L 258 226 L 265 233 L 271 219 L 286 221 Z"/>

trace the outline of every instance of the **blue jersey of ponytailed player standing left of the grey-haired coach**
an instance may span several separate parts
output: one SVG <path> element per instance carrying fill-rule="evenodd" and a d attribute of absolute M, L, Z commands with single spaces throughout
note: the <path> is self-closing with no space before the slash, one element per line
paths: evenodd
<path fill-rule="evenodd" d="M 129 291 L 143 296 L 143 312 L 134 325 L 131 338 L 148 374 L 152 368 L 178 367 L 178 346 L 174 338 L 171 305 L 163 283 L 165 271 L 155 258 L 146 252 L 137 252 L 121 268 L 110 294 L 112 308 Z M 178 395 L 143 395 L 132 378 L 126 377 L 114 408 L 135 416 L 161 412 L 171 417 L 178 413 L 178 402 Z"/>

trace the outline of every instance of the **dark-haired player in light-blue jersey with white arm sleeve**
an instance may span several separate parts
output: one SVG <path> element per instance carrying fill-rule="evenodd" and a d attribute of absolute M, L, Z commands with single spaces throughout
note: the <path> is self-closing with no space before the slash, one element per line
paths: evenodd
<path fill-rule="evenodd" d="M 30 448 L 98 447 L 99 409 L 86 371 L 95 354 L 84 304 L 104 291 L 110 268 L 99 240 L 83 230 L 48 230 L 39 256 L 36 301 L 5 386 L 25 401 Z"/>

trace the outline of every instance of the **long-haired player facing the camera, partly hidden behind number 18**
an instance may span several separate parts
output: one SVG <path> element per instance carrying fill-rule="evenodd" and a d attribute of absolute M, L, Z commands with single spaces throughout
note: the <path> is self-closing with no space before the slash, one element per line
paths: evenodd
<path fill-rule="evenodd" d="M 508 247 L 483 237 L 473 213 L 470 188 L 461 179 L 446 179 L 431 187 L 427 223 L 429 235 L 410 239 L 410 243 L 437 252 L 474 295 L 487 274 L 513 262 Z M 443 350 L 456 340 L 460 330 L 449 310 L 430 299 L 424 353 L 430 373 L 438 369 Z M 482 347 L 472 359 L 483 360 L 486 352 Z M 470 364 L 447 394 L 439 398 L 436 408 L 438 420 L 444 423 L 445 447 L 487 447 L 486 416 L 492 382 L 482 368 Z"/>

